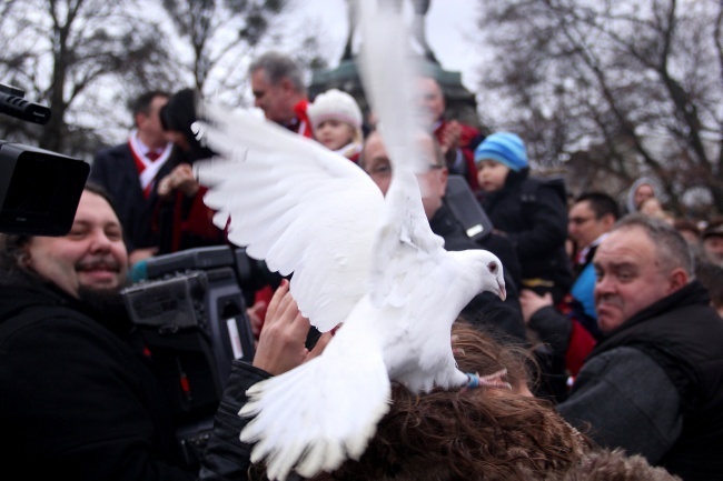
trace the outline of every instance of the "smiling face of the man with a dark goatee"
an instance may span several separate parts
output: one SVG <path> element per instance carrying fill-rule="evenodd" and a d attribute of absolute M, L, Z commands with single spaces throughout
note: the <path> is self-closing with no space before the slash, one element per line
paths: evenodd
<path fill-rule="evenodd" d="M 128 252 L 118 217 L 100 196 L 83 191 L 65 237 L 33 237 L 24 267 L 75 298 L 79 288 L 117 290 L 125 284 Z"/>

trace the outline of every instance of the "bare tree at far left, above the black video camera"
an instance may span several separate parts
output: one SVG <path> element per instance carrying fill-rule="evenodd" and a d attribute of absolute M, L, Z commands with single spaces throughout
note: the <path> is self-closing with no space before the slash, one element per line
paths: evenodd
<path fill-rule="evenodd" d="M 27 127 L 24 137 L 49 150 L 87 157 L 101 142 L 96 128 L 109 121 L 103 113 L 125 110 L 122 103 L 110 103 L 119 100 L 113 98 L 119 90 L 127 99 L 146 86 L 170 84 L 158 26 L 141 18 L 140 8 L 133 0 L 6 3 L 0 78 L 52 110 L 47 126 Z"/>

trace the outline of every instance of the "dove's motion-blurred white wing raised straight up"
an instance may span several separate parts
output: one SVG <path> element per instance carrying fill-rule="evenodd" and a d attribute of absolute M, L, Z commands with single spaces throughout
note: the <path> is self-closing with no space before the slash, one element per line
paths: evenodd
<path fill-rule="evenodd" d="M 445 251 L 442 238 L 432 232 L 415 178 L 433 162 L 419 147 L 425 130 L 429 134 L 419 111 L 419 60 L 409 50 L 400 13 L 389 8 L 390 2 L 378 2 L 376 9 L 374 3 L 359 2 L 364 34 L 360 73 L 367 101 L 379 119 L 393 180 L 377 231 L 370 289 L 376 303 L 402 305 L 412 289 L 438 289 L 428 274 L 444 262 Z M 425 278 L 429 282 L 425 283 Z"/>

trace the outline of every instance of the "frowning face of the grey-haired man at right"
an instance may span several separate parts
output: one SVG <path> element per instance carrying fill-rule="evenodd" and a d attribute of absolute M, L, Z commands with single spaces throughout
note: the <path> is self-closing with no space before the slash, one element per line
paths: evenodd
<path fill-rule="evenodd" d="M 680 274 L 661 267 L 657 247 L 640 227 L 611 232 L 593 260 L 595 308 L 603 332 L 680 289 Z M 680 270 L 677 270 L 680 271 Z"/>

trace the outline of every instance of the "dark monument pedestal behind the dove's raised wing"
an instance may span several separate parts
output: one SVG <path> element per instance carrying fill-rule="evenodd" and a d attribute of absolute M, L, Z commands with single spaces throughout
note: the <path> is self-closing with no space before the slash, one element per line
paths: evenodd
<path fill-rule="evenodd" d="M 436 79 L 442 87 L 446 100 L 445 117 L 447 119 L 456 119 L 463 123 L 482 128 L 477 116 L 477 100 L 474 93 L 462 84 L 462 73 L 444 70 L 438 63 L 428 60 L 424 61 L 423 72 Z M 316 70 L 311 73 L 310 100 L 329 89 L 339 89 L 354 97 L 361 108 L 365 122 L 367 121 L 369 106 L 364 94 L 355 59 L 341 60 L 334 69 Z"/>

